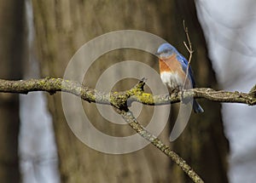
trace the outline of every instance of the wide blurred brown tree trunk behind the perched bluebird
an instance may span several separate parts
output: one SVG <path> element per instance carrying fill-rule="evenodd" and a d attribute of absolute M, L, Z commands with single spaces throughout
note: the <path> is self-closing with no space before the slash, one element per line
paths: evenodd
<path fill-rule="evenodd" d="M 37 34 L 38 59 L 43 77 L 62 77 L 76 50 L 90 39 L 108 31 L 136 29 L 152 32 L 166 38 L 178 49 L 183 50 L 183 54 L 186 54 L 183 46 L 186 37 L 182 24 L 183 20 L 186 20 L 195 49 L 191 65 L 195 68 L 196 81 L 199 86 L 210 85 L 211 88 L 217 88 L 193 2 L 104 2 L 100 0 L 53 2 L 48 0 L 32 1 L 32 6 Z M 156 45 L 156 49 L 158 46 Z M 130 49 L 120 50 L 103 55 L 91 66 L 84 79 L 86 86 L 95 88 L 102 71 L 120 60 L 143 60 L 143 63 L 158 70 L 156 58 L 152 55 Z M 137 71 L 140 70 L 137 69 Z M 126 80 L 117 83 L 113 89 L 131 89 L 133 85 L 134 80 Z M 49 92 L 53 91 L 55 90 Z M 201 90 L 199 90 L 196 93 L 195 90 L 195 94 L 198 94 L 195 96 L 207 95 L 207 91 L 200 93 Z M 238 94 L 237 97 L 239 96 L 247 95 Z M 220 101 L 219 98 L 217 99 Z M 62 182 L 84 182 L 84 180 L 89 182 L 187 181 L 186 176 L 177 170 L 177 166 L 172 164 L 168 157 L 155 152 L 154 146 L 147 146 L 138 152 L 119 156 L 102 154 L 84 146 L 66 123 L 61 106 L 61 95 L 49 96 L 48 102 L 49 111 L 54 118 Z M 226 182 L 225 157 L 228 152 L 228 143 L 223 134 L 220 106 L 218 103 L 209 102 L 202 102 L 202 106 L 206 112 L 201 116 L 193 115 L 190 118 L 188 128 L 172 147 L 195 168 L 203 180 Z M 75 106 L 73 110 L 73 122 L 75 123 L 79 116 L 75 115 Z M 84 110 L 89 117 L 93 118 L 92 121 L 96 128 L 104 130 L 106 134 L 122 136 L 133 133 L 128 125 L 121 130 L 118 130 L 117 125 L 109 125 L 108 121 L 98 114 L 93 104 L 84 103 Z M 150 112 L 152 112 L 150 106 L 143 108 L 143 122 L 148 121 Z M 120 112 L 120 114 L 123 113 Z M 170 118 L 172 121 L 175 117 Z M 166 129 L 160 135 L 160 139 L 169 143 L 166 138 L 168 135 L 169 130 Z"/>

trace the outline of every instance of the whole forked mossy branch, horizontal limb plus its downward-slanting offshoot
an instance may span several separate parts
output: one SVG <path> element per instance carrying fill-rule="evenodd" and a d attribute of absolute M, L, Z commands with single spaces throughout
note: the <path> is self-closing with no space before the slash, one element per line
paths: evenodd
<path fill-rule="evenodd" d="M 0 79 L 0 93 L 27 94 L 32 91 L 46 91 L 49 94 L 55 94 L 57 91 L 75 94 L 88 102 L 115 106 L 116 111 L 129 123 L 132 129 L 150 141 L 154 146 L 164 152 L 172 161 L 177 163 L 183 171 L 189 175 L 194 182 L 203 182 L 200 176 L 179 157 L 176 152 L 172 152 L 170 147 L 163 144 L 157 137 L 150 134 L 143 126 L 137 122 L 137 119 L 129 111 L 128 106 L 131 102 L 137 101 L 144 105 L 158 106 L 179 102 L 180 99 L 191 97 L 204 98 L 216 102 L 236 102 L 244 103 L 249 106 L 256 105 L 256 85 L 248 94 L 229 91 L 215 91 L 213 89 L 188 89 L 174 94 L 152 95 L 145 93 L 143 87 L 145 79 L 143 78 L 132 89 L 123 92 L 103 93 L 83 86 L 80 83 L 64 80 L 61 78 L 45 77 L 42 79 L 29 79 L 20 81 L 9 81 Z"/>

